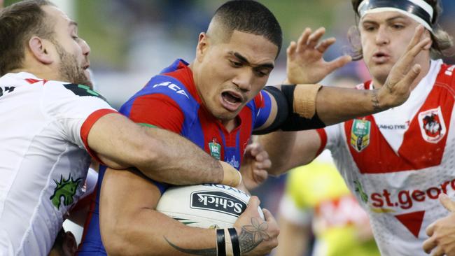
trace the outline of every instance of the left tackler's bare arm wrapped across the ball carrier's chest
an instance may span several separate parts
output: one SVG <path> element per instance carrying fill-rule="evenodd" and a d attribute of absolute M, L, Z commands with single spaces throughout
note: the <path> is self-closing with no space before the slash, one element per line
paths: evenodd
<path fill-rule="evenodd" d="M 99 118 L 88 134 L 89 147 L 113 169 L 135 166 L 149 178 L 174 185 L 225 183 L 229 173 L 186 138 L 164 129 L 141 127 L 123 115 Z M 224 181 L 223 181 L 224 179 Z"/>

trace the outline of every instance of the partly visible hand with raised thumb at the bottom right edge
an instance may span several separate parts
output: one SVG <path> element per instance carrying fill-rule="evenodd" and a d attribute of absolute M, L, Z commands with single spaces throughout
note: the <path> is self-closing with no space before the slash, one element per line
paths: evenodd
<path fill-rule="evenodd" d="M 455 201 L 447 197 L 447 194 L 440 194 L 439 200 L 447 210 L 450 211 L 447 217 L 436 220 L 426 228 L 429 239 L 423 242 L 425 253 L 434 256 L 455 255 Z"/>

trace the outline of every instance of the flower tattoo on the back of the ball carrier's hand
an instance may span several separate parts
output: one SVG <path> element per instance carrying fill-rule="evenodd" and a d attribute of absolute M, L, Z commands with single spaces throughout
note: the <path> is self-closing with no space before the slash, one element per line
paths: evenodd
<path fill-rule="evenodd" d="M 269 225 L 267 225 L 267 222 L 259 223 L 258 219 L 255 218 L 251 218 L 251 225 L 241 227 L 239 234 L 241 253 L 248 253 L 262 243 L 262 241 L 268 241 L 270 239 L 269 234 L 267 234 L 268 228 Z"/>

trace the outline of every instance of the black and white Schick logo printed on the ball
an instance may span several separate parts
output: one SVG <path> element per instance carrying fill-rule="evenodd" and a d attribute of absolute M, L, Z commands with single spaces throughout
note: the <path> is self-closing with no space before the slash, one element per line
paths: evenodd
<path fill-rule="evenodd" d="M 190 197 L 191 208 L 216 211 L 235 217 L 239 217 L 246 209 L 244 201 L 223 191 L 198 191 L 191 193 Z"/>

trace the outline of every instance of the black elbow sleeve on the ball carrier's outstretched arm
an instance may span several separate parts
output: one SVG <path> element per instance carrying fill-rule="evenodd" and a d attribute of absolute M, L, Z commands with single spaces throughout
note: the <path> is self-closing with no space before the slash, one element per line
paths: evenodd
<path fill-rule="evenodd" d="M 295 85 L 281 85 L 281 90 L 276 87 L 266 86 L 264 90 L 272 94 L 278 110 L 276 112 L 276 118 L 270 127 L 255 131 L 253 134 L 268 134 L 277 129 L 283 131 L 300 131 L 325 127 L 324 122 L 318 117 L 317 111 L 311 119 L 302 118 L 297 113 L 293 113 Z"/>

